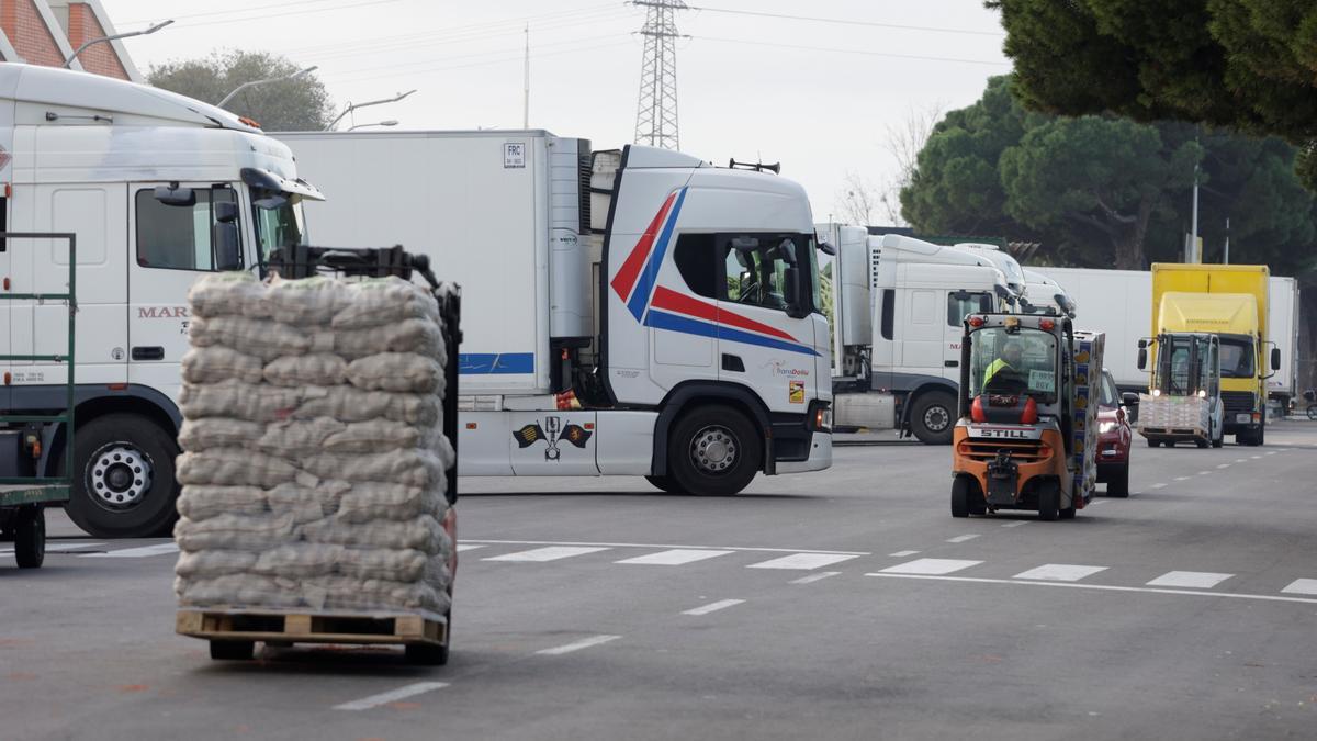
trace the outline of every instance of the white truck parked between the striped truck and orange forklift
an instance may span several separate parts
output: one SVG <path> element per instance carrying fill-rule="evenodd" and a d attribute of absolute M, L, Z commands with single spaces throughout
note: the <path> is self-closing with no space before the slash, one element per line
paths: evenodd
<path fill-rule="evenodd" d="M 1009 310 L 1018 295 L 988 251 L 900 235 L 868 243 L 869 260 L 877 260 L 872 282 L 842 285 L 871 294 L 843 297 L 840 305 L 851 311 L 869 309 L 871 332 L 867 344 L 843 348 L 847 360 L 840 367 L 863 365 L 859 359 L 868 353 L 871 370 L 868 377 L 834 378 L 838 425 L 896 427 L 925 443 L 950 443 L 964 318 Z M 849 264 L 844 245 L 838 262 Z M 843 322 L 857 323 L 853 318 Z"/>

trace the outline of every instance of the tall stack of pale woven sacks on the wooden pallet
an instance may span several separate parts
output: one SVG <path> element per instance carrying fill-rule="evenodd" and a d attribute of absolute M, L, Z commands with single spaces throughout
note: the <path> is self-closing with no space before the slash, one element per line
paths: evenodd
<path fill-rule="evenodd" d="M 400 278 L 225 273 L 188 301 L 179 604 L 444 613 L 435 298 Z"/>

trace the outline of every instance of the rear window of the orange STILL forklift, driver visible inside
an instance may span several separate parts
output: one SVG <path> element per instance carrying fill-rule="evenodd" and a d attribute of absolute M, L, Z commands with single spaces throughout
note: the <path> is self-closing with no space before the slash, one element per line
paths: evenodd
<path fill-rule="evenodd" d="M 1056 336 L 1042 330 L 985 327 L 971 335 L 969 392 L 1027 394 L 1040 403 L 1056 401 Z"/>

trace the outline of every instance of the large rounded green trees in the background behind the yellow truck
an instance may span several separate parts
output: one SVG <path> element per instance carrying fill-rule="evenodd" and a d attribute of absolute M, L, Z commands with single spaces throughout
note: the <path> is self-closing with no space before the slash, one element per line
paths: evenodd
<path fill-rule="evenodd" d="M 1268 262 L 1277 274 L 1309 268 L 1317 207 L 1284 141 L 1029 112 L 1013 84 L 993 78 L 934 129 L 901 191 L 921 232 L 1000 235 L 1042 243 L 1039 257 L 1056 265 L 1143 269 L 1179 260 L 1197 163 L 1205 258 L 1220 258 L 1229 218 L 1231 261 Z"/>

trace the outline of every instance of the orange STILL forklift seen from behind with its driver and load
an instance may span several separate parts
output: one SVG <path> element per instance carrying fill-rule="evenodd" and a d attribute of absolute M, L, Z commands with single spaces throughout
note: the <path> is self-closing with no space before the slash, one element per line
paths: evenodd
<path fill-rule="evenodd" d="M 952 517 L 1021 509 L 1069 519 L 1088 505 L 1102 345 L 1104 335 L 1055 314 L 965 318 Z"/>

